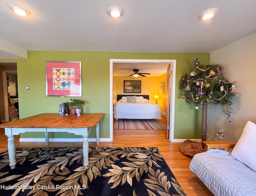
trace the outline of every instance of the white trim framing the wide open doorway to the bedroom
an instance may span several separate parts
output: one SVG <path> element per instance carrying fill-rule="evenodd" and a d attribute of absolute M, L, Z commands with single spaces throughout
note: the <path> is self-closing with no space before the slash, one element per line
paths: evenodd
<path fill-rule="evenodd" d="M 176 60 L 158 59 L 110 59 L 110 141 L 113 141 L 113 64 L 114 63 L 171 63 L 171 108 L 170 108 L 170 141 L 174 141 L 174 105 L 175 105 L 175 79 Z"/>

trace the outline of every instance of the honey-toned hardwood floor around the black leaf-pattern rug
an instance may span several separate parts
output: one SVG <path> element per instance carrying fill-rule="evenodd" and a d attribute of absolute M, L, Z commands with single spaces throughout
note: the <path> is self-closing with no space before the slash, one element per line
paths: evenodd
<path fill-rule="evenodd" d="M 45 147 L 44 142 L 19 142 L 15 136 L 16 147 Z M 7 136 L 0 128 L 0 152 L 7 150 Z M 49 147 L 82 147 L 80 142 L 50 142 Z M 89 147 L 96 147 L 96 142 L 89 142 Z M 166 139 L 165 130 L 114 130 L 112 142 L 100 142 L 100 147 L 158 147 L 164 160 L 171 169 L 187 196 L 213 196 L 206 186 L 194 177 L 189 169 L 191 157 L 183 155 L 180 143 Z"/>

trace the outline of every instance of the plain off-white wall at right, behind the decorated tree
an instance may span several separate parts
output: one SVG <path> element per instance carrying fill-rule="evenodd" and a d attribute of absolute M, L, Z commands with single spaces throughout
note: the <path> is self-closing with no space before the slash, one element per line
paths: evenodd
<path fill-rule="evenodd" d="M 247 121 L 256 123 L 256 33 L 212 52 L 210 62 L 223 65 L 223 72 L 230 82 L 236 81 L 240 94 L 232 100 L 230 123 L 222 112 L 225 106 L 208 107 L 207 136 L 213 138 L 222 129 L 220 141 L 237 141 Z"/>

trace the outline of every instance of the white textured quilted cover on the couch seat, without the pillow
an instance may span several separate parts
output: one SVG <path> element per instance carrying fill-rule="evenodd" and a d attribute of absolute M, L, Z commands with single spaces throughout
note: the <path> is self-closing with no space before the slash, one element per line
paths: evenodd
<path fill-rule="evenodd" d="M 189 168 L 215 196 L 256 196 L 256 172 L 229 152 L 210 149 L 198 153 Z"/>

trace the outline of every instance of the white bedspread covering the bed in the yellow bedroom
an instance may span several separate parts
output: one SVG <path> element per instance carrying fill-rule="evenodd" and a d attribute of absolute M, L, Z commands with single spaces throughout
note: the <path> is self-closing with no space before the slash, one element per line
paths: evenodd
<path fill-rule="evenodd" d="M 162 108 L 150 102 L 126 103 L 118 101 L 114 106 L 114 118 L 161 119 Z"/>

